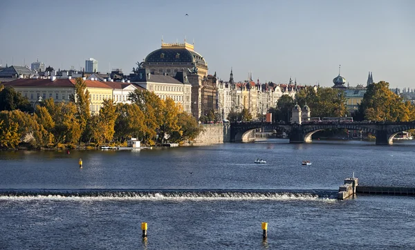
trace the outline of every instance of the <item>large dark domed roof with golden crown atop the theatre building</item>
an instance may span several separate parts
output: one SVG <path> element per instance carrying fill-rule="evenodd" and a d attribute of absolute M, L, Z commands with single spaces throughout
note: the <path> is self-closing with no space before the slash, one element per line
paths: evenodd
<path fill-rule="evenodd" d="M 208 64 L 202 55 L 194 51 L 193 44 L 167 44 L 162 41 L 161 48 L 149 53 L 142 64 L 152 74 L 176 76 L 181 71 L 192 71 L 200 77 L 208 76 Z"/>

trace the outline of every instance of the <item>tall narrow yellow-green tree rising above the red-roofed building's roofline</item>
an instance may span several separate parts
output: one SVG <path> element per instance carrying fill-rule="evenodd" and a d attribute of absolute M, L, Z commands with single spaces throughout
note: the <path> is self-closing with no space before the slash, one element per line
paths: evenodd
<path fill-rule="evenodd" d="M 91 110 L 89 110 L 89 91 L 86 90 L 86 83 L 82 78 L 75 79 L 75 95 L 71 95 L 71 102 L 76 104 L 76 117 L 81 133 L 84 133 L 86 122 L 91 117 Z"/>

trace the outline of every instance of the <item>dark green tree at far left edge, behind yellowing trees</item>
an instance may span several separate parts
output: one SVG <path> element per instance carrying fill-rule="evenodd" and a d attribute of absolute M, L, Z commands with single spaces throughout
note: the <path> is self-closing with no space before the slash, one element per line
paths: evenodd
<path fill-rule="evenodd" d="M 5 87 L 0 91 L 0 111 L 19 109 L 23 112 L 32 112 L 33 107 L 27 98 L 22 97 L 12 87 Z"/>

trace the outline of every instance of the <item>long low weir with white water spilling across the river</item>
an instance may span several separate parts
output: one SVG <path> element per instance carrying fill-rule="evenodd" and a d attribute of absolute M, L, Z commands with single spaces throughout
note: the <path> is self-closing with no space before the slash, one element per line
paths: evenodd
<path fill-rule="evenodd" d="M 334 190 L 131 190 L 131 189 L 82 189 L 82 190 L 0 190 L 2 199 L 50 200 L 318 200 L 335 199 Z"/>

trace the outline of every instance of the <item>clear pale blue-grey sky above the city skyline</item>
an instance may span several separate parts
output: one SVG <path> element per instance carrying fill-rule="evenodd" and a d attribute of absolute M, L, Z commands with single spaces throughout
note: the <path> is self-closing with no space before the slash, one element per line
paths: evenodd
<path fill-rule="evenodd" d="M 412 0 L 0 1 L 0 64 L 100 72 L 122 68 L 176 41 L 193 43 L 209 73 L 243 81 L 350 86 L 388 81 L 415 88 Z M 188 16 L 186 16 L 188 14 Z"/>

